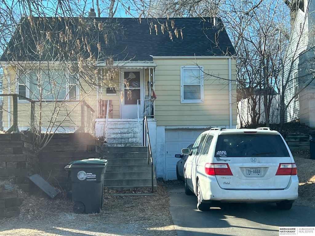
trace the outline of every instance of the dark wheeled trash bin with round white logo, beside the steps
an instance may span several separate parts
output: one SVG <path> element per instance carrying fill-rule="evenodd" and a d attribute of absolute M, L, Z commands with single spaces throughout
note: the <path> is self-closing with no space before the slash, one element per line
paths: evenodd
<path fill-rule="evenodd" d="M 70 162 L 72 201 L 75 213 L 99 213 L 102 209 L 104 173 L 107 160 L 90 158 Z"/>

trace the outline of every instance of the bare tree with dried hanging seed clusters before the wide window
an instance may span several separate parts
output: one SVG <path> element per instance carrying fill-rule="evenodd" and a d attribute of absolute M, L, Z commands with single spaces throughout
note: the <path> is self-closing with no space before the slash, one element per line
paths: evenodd
<path fill-rule="evenodd" d="M 116 20 L 84 17 L 87 7 L 86 1 L 63 0 L 1 4 L 1 61 L 9 66 L 6 74 L 10 68 L 17 72 L 12 76 L 17 80 L 6 80 L 3 89 L 15 88 L 11 92 L 37 101 L 31 128 L 38 150 L 58 129 L 77 125 L 73 117 L 95 87 L 119 87 L 112 81 L 117 67 L 105 48 L 123 29 Z M 99 62 L 106 69 L 100 70 Z"/>

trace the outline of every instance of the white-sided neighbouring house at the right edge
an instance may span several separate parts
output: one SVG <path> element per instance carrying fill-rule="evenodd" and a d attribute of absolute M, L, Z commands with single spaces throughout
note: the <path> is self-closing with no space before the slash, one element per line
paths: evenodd
<path fill-rule="evenodd" d="M 284 58 L 284 79 L 289 78 L 285 90 L 285 122 L 299 120 L 315 127 L 315 1 L 298 1 L 295 22 L 291 30 L 290 44 Z M 292 70 L 290 67 L 292 66 Z M 310 84 L 309 82 L 312 81 Z M 302 88 L 309 84 L 303 91 Z M 300 92 L 301 91 L 301 92 Z"/>

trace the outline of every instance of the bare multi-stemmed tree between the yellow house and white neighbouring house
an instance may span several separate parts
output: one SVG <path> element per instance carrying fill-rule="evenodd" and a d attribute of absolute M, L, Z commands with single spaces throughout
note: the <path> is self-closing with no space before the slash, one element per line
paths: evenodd
<path fill-rule="evenodd" d="M 242 91 L 251 104 L 251 122 L 257 125 L 264 116 L 270 125 L 270 108 L 281 67 L 280 58 L 288 35 L 289 19 L 281 1 L 259 1 L 228 5 L 224 21 L 238 55 L 238 91 Z M 261 104 L 263 114 L 261 114 Z"/>

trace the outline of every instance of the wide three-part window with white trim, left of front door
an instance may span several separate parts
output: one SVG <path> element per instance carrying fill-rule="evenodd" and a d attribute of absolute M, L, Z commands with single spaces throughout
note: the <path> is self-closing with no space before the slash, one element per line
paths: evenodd
<path fill-rule="evenodd" d="M 33 100 L 77 100 L 77 75 L 61 69 L 19 70 L 17 93 Z"/>

